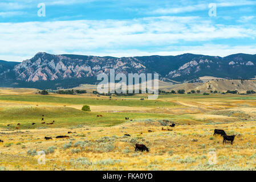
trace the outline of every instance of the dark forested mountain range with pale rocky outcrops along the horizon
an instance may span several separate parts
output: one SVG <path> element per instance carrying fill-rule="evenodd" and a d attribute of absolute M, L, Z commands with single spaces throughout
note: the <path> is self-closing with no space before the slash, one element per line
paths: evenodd
<path fill-rule="evenodd" d="M 200 82 L 199 77 L 249 79 L 256 76 L 256 55 L 226 57 L 185 53 L 178 56 L 99 57 L 36 53 L 20 62 L 0 60 L 0 86 L 38 89 L 73 88 L 99 82 L 99 73 L 159 73 L 173 83 Z"/>

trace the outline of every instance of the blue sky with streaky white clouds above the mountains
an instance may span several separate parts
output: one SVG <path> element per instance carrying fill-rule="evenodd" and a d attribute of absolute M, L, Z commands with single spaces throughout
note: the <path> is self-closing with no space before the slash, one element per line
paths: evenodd
<path fill-rule="evenodd" d="M 0 60 L 6 61 L 37 52 L 256 54 L 255 38 L 256 0 L 0 1 Z"/>

